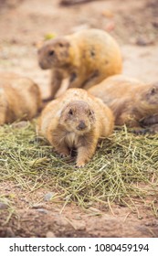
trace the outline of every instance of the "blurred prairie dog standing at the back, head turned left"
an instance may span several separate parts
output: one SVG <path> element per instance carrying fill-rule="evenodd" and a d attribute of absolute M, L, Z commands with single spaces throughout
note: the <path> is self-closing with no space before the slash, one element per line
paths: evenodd
<path fill-rule="evenodd" d="M 117 42 L 100 29 L 81 30 L 49 40 L 38 49 L 38 63 L 41 69 L 51 69 L 51 98 L 57 98 L 68 88 L 87 90 L 121 73 L 122 66 Z"/>

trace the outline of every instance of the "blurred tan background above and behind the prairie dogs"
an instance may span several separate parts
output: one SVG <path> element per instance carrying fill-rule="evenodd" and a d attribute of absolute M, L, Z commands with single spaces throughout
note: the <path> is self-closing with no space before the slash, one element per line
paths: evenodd
<path fill-rule="evenodd" d="M 97 27 L 115 37 L 123 73 L 157 81 L 157 0 L 0 0 L 0 70 L 36 80 L 44 97 L 49 72 L 37 65 L 37 48 L 59 35 Z"/>

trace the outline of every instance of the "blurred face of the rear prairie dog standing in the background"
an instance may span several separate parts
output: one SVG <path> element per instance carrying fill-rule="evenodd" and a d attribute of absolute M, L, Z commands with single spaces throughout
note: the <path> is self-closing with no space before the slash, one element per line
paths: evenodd
<path fill-rule="evenodd" d="M 50 40 L 38 49 L 38 63 L 41 69 L 62 68 L 69 63 L 69 43 L 65 38 Z"/>

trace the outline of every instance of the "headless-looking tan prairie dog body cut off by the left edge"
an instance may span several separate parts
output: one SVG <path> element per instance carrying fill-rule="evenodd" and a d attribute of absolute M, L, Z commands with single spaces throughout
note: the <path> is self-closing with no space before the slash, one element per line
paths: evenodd
<path fill-rule="evenodd" d="M 30 120 L 41 108 L 37 84 L 14 73 L 0 73 L 0 125 Z"/>

